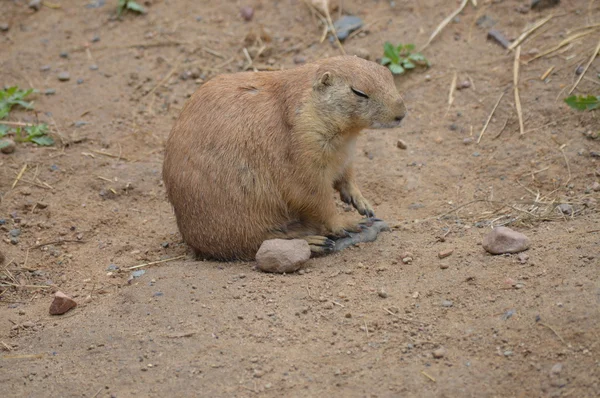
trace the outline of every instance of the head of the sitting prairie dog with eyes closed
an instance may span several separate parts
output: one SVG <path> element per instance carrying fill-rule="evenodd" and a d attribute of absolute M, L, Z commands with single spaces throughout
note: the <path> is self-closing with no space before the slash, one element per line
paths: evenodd
<path fill-rule="evenodd" d="M 358 57 L 334 57 L 323 62 L 313 82 L 313 97 L 322 118 L 343 131 L 396 127 L 406 115 L 392 73 Z"/>

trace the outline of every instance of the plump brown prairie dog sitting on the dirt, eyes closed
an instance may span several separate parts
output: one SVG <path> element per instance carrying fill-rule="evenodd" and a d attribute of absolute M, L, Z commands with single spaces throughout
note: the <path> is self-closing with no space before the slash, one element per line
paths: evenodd
<path fill-rule="evenodd" d="M 184 241 L 219 260 L 254 259 L 273 238 L 331 251 L 327 237 L 358 226 L 338 214 L 334 190 L 374 215 L 354 181 L 358 134 L 405 113 L 390 71 L 357 57 L 208 81 L 166 144 L 163 178 Z"/>

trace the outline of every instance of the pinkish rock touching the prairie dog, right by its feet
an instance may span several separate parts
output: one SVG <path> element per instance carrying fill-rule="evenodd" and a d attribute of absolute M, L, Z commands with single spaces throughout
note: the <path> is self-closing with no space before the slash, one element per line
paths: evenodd
<path fill-rule="evenodd" d="M 256 253 L 258 268 L 279 274 L 296 272 L 310 258 L 310 247 L 303 239 L 266 240 Z"/>

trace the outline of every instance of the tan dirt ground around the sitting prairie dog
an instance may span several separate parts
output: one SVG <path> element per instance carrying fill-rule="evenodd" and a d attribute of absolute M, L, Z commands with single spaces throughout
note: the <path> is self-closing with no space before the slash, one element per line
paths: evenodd
<path fill-rule="evenodd" d="M 261 26 L 272 39 L 255 61 L 261 68 L 339 50 L 319 42 L 322 27 L 300 0 L 153 0 L 146 15 L 122 21 L 111 18 L 116 1 L 87 3 L 55 0 L 37 12 L 23 0 L 0 4 L 9 24 L 0 84 L 41 91 L 35 112 L 9 120 L 47 122 L 58 141 L 0 154 L 2 396 L 600 396 L 600 193 L 590 189 L 600 141 L 583 134 L 600 123 L 562 101 L 600 31 L 525 63 L 600 22 L 598 2 L 527 13 L 517 10 L 527 1 L 468 4 L 424 50 L 432 67 L 397 78 L 405 123 L 364 132 L 356 159 L 364 195 L 394 226 L 376 242 L 292 275 L 188 256 L 145 267 L 130 283 L 127 267 L 187 253 L 160 175 L 173 120 L 201 83 L 180 76 L 241 70 L 244 37 Z M 348 53 L 375 59 L 386 40 L 422 46 L 458 7 L 390 3 L 343 2 L 367 23 L 345 42 Z M 250 22 L 239 15 L 245 5 L 255 9 Z M 515 39 L 550 14 L 522 46 L 520 136 L 514 55 L 475 21 L 487 15 Z M 599 62 L 577 93 L 600 93 Z M 449 106 L 455 75 L 472 85 Z M 481 142 L 465 144 L 503 91 Z M 559 215 L 560 203 L 574 213 Z M 481 247 L 492 225 L 507 223 L 531 239 L 525 263 Z M 50 316 L 56 289 L 79 306 Z"/>

